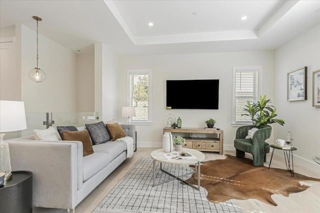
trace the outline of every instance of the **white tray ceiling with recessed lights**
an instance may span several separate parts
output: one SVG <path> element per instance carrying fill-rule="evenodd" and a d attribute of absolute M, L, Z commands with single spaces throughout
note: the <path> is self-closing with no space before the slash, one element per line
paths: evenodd
<path fill-rule="evenodd" d="M 35 30 L 33 15 L 77 53 L 94 42 L 120 55 L 268 50 L 319 23 L 320 0 L 0 0 L 1 28 Z"/>

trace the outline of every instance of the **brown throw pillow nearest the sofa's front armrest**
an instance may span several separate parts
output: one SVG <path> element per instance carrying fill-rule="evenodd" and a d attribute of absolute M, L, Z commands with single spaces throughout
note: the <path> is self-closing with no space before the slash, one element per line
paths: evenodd
<path fill-rule="evenodd" d="M 82 131 L 61 131 L 64 141 L 81 141 L 83 146 L 83 156 L 93 153 L 90 136 L 87 130 Z"/>

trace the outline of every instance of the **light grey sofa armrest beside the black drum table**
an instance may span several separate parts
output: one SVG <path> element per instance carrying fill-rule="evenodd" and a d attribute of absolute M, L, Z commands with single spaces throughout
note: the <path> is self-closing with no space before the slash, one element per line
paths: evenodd
<path fill-rule="evenodd" d="M 7 140 L 12 171 L 32 172 L 33 206 L 74 209 L 77 205 L 79 141 Z M 81 156 L 79 156 L 79 153 Z M 80 172 L 83 174 L 83 171 Z M 82 180 L 81 180 L 82 182 Z"/>

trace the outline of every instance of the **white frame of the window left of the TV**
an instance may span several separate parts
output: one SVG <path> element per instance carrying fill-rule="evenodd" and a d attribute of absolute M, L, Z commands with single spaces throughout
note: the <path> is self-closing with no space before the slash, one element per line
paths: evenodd
<path fill-rule="evenodd" d="M 130 120 L 131 123 L 136 125 L 151 125 L 152 124 L 152 70 L 151 69 L 127 69 L 126 72 L 126 104 L 131 106 L 130 97 L 130 75 L 131 74 L 147 74 L 148 75 L 148 120 Z"/>

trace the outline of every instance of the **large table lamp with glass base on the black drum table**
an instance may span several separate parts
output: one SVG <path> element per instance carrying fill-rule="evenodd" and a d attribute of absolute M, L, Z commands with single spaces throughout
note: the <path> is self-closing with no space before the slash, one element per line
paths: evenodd
<path fill-rule="evenodd" d="M 0 100 L 0 173 L 4 173 L 4 181 L 11 178 L 9 145 L 3 141 L 3 132 L 26 129 L 24 102 Z"/>

